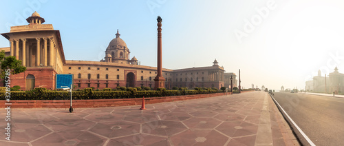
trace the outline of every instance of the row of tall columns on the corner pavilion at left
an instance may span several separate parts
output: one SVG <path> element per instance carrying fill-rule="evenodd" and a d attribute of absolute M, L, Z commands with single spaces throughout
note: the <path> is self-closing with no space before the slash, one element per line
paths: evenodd
<path fill-rule="evenodd" d="M 54 38 L 43 37 L 35 39 L 36 42 L 34 42 L 34 39 L 10 39 L 10 55 L 16 56 L 16 59 L 19 59 L 21 55 L 23 66 L 52 66 L 54 64 Z M 49 53 L 47 53 L 48 39 Z M 21 45 L 19 45 L 20 43 Z M 36 45 L 36 48 L 34 48 L 34 45 Z M 19 54 L 19 50 L 21 50 L 21 54 Z M 49 56 L 49 61 L 47 56 Z"/>

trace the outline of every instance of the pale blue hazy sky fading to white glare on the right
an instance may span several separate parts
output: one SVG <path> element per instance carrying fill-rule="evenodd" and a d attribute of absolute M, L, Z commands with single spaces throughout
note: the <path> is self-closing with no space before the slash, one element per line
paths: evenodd
<path fill-rule="evenodd" d="M 0 33 L 28 25 L 37 11 L 60 30 L 67 60 L 100 61 L 119 29 L 141 65 L 156 66 L 162 17 L 162 66 L 241 69 L 241 86 L 297 87 L 322 70 L 344 73 L 344 1 L 1 1 Z M 8 47 L 1 37 L 0 47 Z"/>

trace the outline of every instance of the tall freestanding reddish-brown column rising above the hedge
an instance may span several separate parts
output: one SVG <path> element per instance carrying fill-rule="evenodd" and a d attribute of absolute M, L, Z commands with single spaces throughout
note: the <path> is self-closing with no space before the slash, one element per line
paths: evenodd
<path fill-rule="evenodd" d="M 165 78 L 162 76 L 162 41 L 161 41 L 161 22 L 162 19 L 158 17 L 158 74 L 155 76 L 155 85 L 154 90 L 157 90 L 158 88 L 164 88 L 165 87 Z"/>

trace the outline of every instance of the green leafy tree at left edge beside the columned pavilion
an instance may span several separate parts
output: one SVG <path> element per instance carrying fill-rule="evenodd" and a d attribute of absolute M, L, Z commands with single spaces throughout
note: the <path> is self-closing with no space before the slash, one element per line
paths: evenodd
<path fill-rule="evenodd" d="M 1 79 L 6 78 L 6 70 L 11 70 L 11 74 L 19 74 L 25 72 L 26 67 L 21 65 L 21 61 L 17 60 L 15 56 L 5 56 L 5 51 L 0 52 L 0 77 Z"/>

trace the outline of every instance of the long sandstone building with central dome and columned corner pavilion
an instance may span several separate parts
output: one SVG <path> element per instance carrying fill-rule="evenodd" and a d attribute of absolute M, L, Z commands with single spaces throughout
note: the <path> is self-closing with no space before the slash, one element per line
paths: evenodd
<path fill-rule="evenodd" d="M 65 60 L 59 30 L 54 30 L 52 24 L 43 24 L 45 20 L 37 12 L 26 20 L 28 25 L 12 26 L 10 32 L 1 34 L 10 41 L 10 48 L 0 50 L 5 50 L 6 55 L 16 56 L 27 67 L 25 72 L 11 75 L 12 86 L 19 85 L 21 90 L 32 90 L 35 87 L 54 90 L 56 74 L 74 74 L 73 82 L 77 89 L 154 87 L 157 67 L 140 65 L 135 56 L 130 59 L 131 52 L 120 38 L 118 30 L 116 38 L 110 41 L 105 50 L 104 59 L 70 61 Z M 213 66 L 208 67 L 162 69 L 167 89 L 175 86 L 227 87 L 228 80 L 224 72 L 224 67 L 219 67 L 216 59 Z"/>

